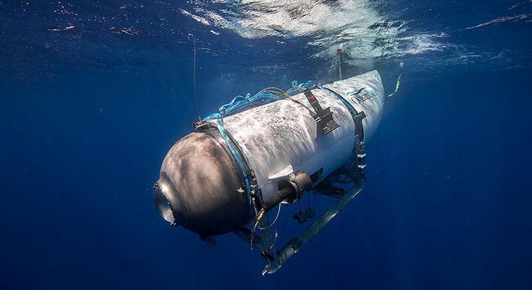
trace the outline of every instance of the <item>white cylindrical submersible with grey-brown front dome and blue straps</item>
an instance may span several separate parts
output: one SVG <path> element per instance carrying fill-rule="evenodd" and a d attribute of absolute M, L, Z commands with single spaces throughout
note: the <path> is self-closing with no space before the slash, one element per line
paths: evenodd
<path fill-rule="evenodd" d="M 355 162 L 363 179 L 364 142 L 384 103 L 378 71 L 261 93 L 267 92 L 272 98 L 233 100 L 170 148 L 154 185 L 155 205 L 168 223 L 205 239 L 242 233 L 251 222 L 243 232 L 252 240 L 266 212 L 298 201 L 346 163 Z M 269 245 L 263 250 L 267 259 L 281 255 Z"/>

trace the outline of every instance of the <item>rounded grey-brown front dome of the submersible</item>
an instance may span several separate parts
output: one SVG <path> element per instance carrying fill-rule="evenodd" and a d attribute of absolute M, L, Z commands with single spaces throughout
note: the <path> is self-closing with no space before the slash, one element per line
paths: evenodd
<path fill-rule="evenodd" d="M 191 133 L 164 158 L 155 205 L 166 221 L 202 236 L 224 234 L 251 219 L 244 179 L 215 131 Z"/>

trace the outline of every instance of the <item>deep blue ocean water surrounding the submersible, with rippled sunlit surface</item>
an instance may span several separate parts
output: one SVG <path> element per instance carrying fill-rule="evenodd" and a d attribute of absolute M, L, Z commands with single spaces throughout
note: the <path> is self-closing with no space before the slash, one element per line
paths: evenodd
<path fill-rule="evenodd" d="M 344 76 L 402 76 L 364 191 L 274 275 L 154 208 L 194 43 L 202 117 L 336 80 L 340 44 Z M 0 0 L 0 289 L 530 289 L 531 77 L 529 0 Z"/>

